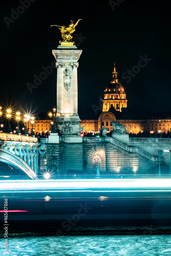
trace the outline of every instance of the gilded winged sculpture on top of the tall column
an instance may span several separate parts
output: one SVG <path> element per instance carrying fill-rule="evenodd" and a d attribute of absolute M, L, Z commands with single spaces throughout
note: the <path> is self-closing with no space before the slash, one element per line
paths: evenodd
<path fill-rule="evenodd" d="M 57 27 L 60 29 L 62 41 L 60 40 L 61 46 L 74 46 L 74 41 L 72 41 L 72 33 L 75 31 L 75 27 L 78 25 L 79 21 L 81 19 L 78 19 L 78 21 L 74 24 L 74 20 L 71 20 L 71 24 L 69 26 L 59 26 L 59 25 L 51 25 L 51 27 Z"/>

